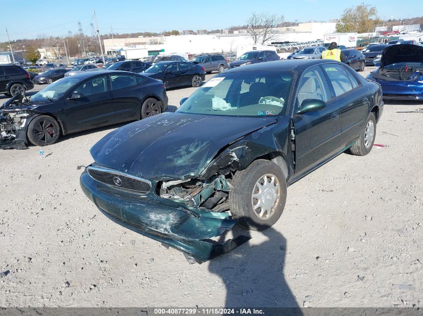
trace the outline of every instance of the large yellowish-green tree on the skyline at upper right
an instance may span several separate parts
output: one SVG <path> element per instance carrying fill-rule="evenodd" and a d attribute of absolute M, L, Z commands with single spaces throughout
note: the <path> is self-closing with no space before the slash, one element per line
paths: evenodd
<path fill-rule="evenodd" d="M 336 23 L 336 31 L 366 33 L 373 31 L 374 26 L 379 22 L 376 8 L 361 3 L 344 10 L 339 22 Z"/>

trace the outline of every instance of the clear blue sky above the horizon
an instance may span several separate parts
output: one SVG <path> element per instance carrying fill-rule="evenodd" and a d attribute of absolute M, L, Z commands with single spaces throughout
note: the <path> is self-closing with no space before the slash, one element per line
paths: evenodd
<path fill-rule="evenodd" d="M 64 36 L 68 31 L 91 34 L 93 9 L 96 9 L 100 33 L 137 31 L 216 29 L 244 24 L 253 12 L 271 11 L 286 21 L 328 20 L 338 18 L 344 8 L 360 3 L 377 8 L 381 18 L 407 18 L 423 15 L 423 1 L 407 0 L 58 0 L 4 1 L 0 11 L 0 42 L 36 38 L 38 35 Z M 406 4 L 405 4 L 406 3 Z M 263 5 L 262 5 L 263 4 Z M 24 7 L 23 7 L 24 6 Z M 18 13 L 18 15 L 17 15 Z"/>

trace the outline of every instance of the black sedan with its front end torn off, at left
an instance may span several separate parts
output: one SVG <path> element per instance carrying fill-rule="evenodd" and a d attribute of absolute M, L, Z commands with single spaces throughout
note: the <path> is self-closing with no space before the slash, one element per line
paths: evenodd
<path fill-rule="evenodd" d="M 126 71 L 83 72 L 56 81 L 30 100 L 18 95 L 0 108 L 0 145 L 39 146 L 59 136 L 139 120 L 167 109 L 163 82 Z M 5 145 L 0 146 L 5 148 Z"/>

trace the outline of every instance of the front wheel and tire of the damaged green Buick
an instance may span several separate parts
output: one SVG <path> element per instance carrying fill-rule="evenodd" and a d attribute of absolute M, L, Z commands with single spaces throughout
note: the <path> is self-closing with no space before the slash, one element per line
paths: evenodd
<path fill-rule="evenodd" d="M 282 170 L 268 160 L 255 160 L 237 171 L 229 191 L 229 208 L 241 226 L 260 231 L 282 215 L 286 202 L 286 181 Z"/>

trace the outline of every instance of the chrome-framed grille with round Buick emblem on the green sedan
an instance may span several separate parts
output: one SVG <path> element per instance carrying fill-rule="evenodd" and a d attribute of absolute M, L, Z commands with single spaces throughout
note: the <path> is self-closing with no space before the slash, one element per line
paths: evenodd
<path fill-rule="evenodd" d="M 149 181 L 113 169 L 90 166 L 87 171 L 93 179 L 115 188 L 139 193 L 148 193 L 151 190 Z"/>

